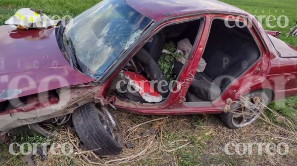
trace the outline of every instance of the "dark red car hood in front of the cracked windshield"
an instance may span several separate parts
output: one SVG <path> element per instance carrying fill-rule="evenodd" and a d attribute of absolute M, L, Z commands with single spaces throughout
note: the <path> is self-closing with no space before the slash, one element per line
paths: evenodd
<path fill-rule="evenodd" d="M 64 58 L 55 28 L 0 26 L 0 102 L 91 81 Z"/>

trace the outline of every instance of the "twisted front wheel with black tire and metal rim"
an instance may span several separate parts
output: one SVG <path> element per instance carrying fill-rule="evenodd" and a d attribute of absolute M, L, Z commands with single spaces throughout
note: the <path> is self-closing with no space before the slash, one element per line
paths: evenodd
<path fill-rule="evenodd" d="M 95 154 L 117 155 L 122 151 L 122 134 L 107 108 L 86 104 L 73 112 L 72 121 L 81 141 Z"/>

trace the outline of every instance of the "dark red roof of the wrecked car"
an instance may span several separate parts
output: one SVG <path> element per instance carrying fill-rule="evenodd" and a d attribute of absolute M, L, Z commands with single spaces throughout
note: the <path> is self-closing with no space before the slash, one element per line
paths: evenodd
<path fill-rule="evenodd" d="M 218 0 L 126 0 L 126 2 L 155 21 L 198 12 L 248 14 L 240 8 Z"/>

